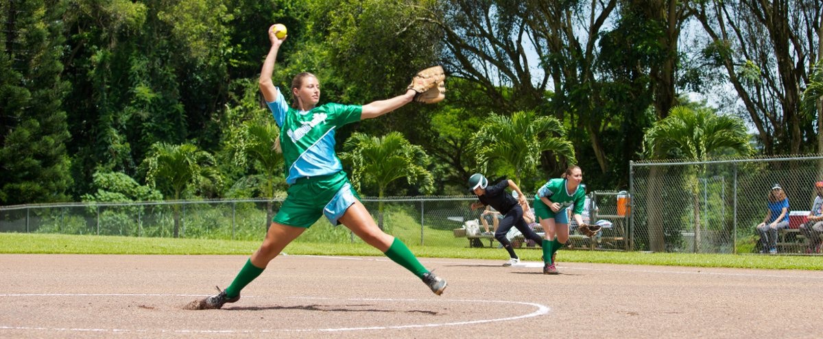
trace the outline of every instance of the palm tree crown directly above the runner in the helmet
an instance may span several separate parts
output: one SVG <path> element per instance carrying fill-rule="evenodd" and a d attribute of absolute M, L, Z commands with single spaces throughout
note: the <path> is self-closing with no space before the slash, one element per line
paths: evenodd
<path fill-rule="evenodd" d="M 574 163 L 574 146 L 563 136 L 563 125 L 554 117 L 537 116 L 533 111 L 515 112 L 511 117 L 492 114 L 472 139 L 472 146 L 481 172 L 486 172 L 489 161 L 501 159 L 514 167 L 514 183 L 520 185 L 523 172 L 537 169 L 544 151 Z"/>

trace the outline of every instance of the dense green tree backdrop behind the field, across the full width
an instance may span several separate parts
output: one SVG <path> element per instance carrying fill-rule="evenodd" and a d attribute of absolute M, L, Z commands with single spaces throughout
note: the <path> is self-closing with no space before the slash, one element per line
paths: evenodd
<path fill-rule="evenodd" d="M 417 70 L 444 65 L 443 103 L 408 104 L 336 130 L 337 151 L 354 132 L 402 132 L 431 160 L 431 183 L 365 183 L 364 195 L 465 193 L 477 171 L 528 189 L 570 163 L 584 169 L 590 189 L 625 189 L 629 161 L 651 154 L 640 151 L 645 130 L 683 104 L 686 92 L 711 99 L 718 115 L 743 117 L 766 155 L 820 152 L 823 144 L 813 141 L 821 109 L 811 109 L 813 100 L 803 106 L 802 93 L 819 82 L 812 67 L 821 58 L 823 4 L 778 4 L 2 2 L 0 204 L 155 198 L 104 188 L 99 179 L 128 176 L 129 190 L 154 184 L 148 160 L 158 147 L 202 152 L 213 170 L 208 184 L 197 175 L 160 180 L 165 198 L 283 193 L 279 160 L 264 154 L 279 131 L 257 84 L 275 22 L 289 31 L 275 85 L 288 88 L 298 72 L 313 72 L 323 86 L 319 104 L 383 100 L 402 93 Z M 522 163 L 514 153 L 495 155 L 505 150 L 493 140 L 474 138 L 518 112 L 557 122 L 507 141 L 522 144 Z M 486 161 L 492 158 L 502 160 Z"/>

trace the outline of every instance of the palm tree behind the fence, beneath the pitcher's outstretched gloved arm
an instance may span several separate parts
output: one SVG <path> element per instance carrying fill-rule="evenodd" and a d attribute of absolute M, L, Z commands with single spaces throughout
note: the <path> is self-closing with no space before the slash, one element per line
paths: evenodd
<path fill-rule="evenodd" d="M 418 183 L 423 192 L 431 192 L 434 179 L 425 169 L 429 157 L 421 146 L 412 145 L 400 132 L 389 132 L 383 137 L 371 137 L 356 132 L 343 145 L 340 159 L 353 165 L 351 178 L 355 189 L 360 183 L 377 183 L 381 202 L 378 207 L 378 226 L 383 230 L 383 202 L 385 188 L 395 179 L 406 178 L 409 184 Z"/>

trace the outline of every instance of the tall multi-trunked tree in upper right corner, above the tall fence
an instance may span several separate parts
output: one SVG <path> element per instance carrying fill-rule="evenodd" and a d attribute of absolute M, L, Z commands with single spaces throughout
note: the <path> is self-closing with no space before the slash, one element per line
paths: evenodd
<path fill-rule="evenodd" d="M 820 52 L 823 3 L 689 2 L 709 35 L 704 63 L 722 70 L 757 128 L 765 153 L 798 154 L 815 133 L 800 113 L 802 86 Z M 737 98 L 732 98 L 737 102 Z"/>

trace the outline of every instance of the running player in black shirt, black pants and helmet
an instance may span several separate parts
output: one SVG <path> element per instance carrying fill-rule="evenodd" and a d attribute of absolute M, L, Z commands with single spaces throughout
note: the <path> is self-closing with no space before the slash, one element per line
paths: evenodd
<path fill-rule="evenodd" d="M 523 192 L 520 192 L 520 188 L 514 184 L 514 181 L 503 180 L 491 187 L 487 187 L 488 183 L 489 180 L 486 179 L 483 174 L 474 174 L 468 179 L 469 189 L 477 195 L 477 200 L 480 200 L 480 202 L 472 203 L 472 210 L 491 206 L 495 207 L 495 210 L 500 211 L 500 214 L 504 215 L 503 220 L 500 221 L 500 225 L 497 226 L 497 230 L 495 231 L 495 239 L 500 241 L 503 248 L 509 252 L 510 259 L 508 262 L 505 262 L 503 266 L 512 266 L 512 264 L 520 262 L 520 258 L 514 253 L 511 242 L 509 242 L 509 239 L 506 239 L 506 233 L 509 233 L 509 230 L 511 230 L 513 226 L 517 227 L 526 239 L 532 239 L 537 244 L 542 244 L 543 239 L 528 227 L 528 224 L 523 219 L 523 207 L 520 207 L 518 199 L 515 199 L 511 193 L 506 192 L 505 188 L 511 187 L 514 192 L 518 193 L 519 199 L 523 201 L 526 200 L 526 196 L 523 195 Z"/>

